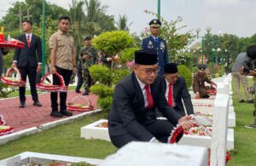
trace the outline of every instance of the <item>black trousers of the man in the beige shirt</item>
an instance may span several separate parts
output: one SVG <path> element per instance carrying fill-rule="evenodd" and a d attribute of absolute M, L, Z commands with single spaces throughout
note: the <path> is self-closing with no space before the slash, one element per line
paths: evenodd
<path fill-rule="evenodd" d="M 56 71 L 63 77 L 65 85 L 68 86 L 73 71 L 63 69 L 61 67 L 55 66 Z M 53 75 L 53 84 L 60 85 L 60 79 L 55 74 Z M 58 112 L 58 92 L 50 93 L 51 109 L 52 112 Z M 60 92 L 60 111 L 65 111 L 67 109 L 67 92 Z"/>

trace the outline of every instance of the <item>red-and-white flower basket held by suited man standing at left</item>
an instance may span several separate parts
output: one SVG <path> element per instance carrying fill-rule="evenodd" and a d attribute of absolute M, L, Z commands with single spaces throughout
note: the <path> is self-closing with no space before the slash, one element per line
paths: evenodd
<path fill-rule="evenodd" d="M 9 68 L 5 77 L 1 77 L 1 81 L 12 87 L 26 87 L 26 81 L 21 80 L 20 71 L 15 68 Z"/>

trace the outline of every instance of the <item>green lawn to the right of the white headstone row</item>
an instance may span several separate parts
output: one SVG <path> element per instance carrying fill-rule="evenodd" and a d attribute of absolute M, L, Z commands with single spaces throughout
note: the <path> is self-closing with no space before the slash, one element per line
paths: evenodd
<path fill-rule="evenodd" d="M 249 81 L 253 85 L 252 80 Z M 244 126 L 253 123 L 253 104 L 239 103 L 236 90 L 233 89 L 233 105 L 236 112 L 235 150 L 231 152 L 230 166 L 256 165 L 256 129 L 246 129 Z M 244 96 L 243 89 L 241 94 Z"/>

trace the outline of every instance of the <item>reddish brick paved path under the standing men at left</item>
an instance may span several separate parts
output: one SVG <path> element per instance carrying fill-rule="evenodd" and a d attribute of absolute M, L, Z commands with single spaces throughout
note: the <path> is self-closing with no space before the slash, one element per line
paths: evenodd
<path fill-rule="evenodd" d="M 70 102 L 75 96 L 81 95 L 76 94 L 74 91 L 68 91 L 67 93 L 67 102 Z M 39 94 L 39 100 L 42 107 L 32 106 L 32 97 L 26 96 L 26 106 L 25 108 L 19 108 L 20 100 L 19 97 L 10 98 L 10 99 L 1 99 L 0 100 L 0 114 L 3 115 L 6 123 L 15 128 L 16 131 L 23 129 L 28 129 L 31 127 L 38 127 L 41 124 L 54 122 L 63 117 L 50 117 L 51 112 L 49 94 Z M 94 109 L 96 106 L 96 95 L 90 94 L 86 96 L 90 99 Z M 77 115 L 81 112 L 73 112 L 74 115 Z"/>

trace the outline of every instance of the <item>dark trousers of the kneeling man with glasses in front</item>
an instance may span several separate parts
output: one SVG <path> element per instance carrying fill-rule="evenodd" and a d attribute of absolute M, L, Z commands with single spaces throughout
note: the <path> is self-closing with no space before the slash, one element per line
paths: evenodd
<path fill-rule="evenodd" d="M 171 135 L 173 129 L 172 123 L 167 120 L 156 120 L 144 127 L 149 133 L 154 135 L 157 140 L 163 143 L 167 143 L 168 137 Z M 125 146 L 131 141 L 143 141 L 140 140 L 140 138 L 130 135 L 129 133 L 125 135 L 110 136 L 110 140 L 112 141 L 113 145 L 118 148 Z"/>

